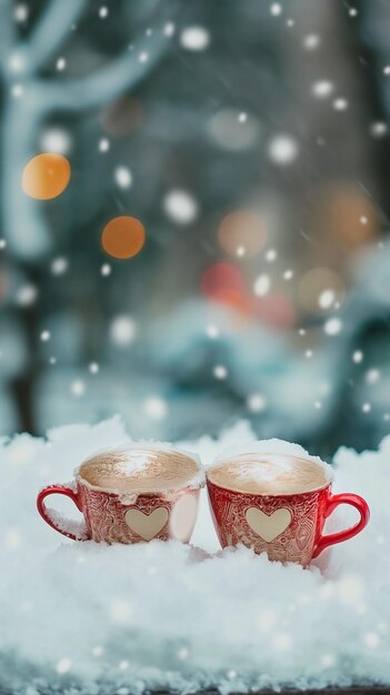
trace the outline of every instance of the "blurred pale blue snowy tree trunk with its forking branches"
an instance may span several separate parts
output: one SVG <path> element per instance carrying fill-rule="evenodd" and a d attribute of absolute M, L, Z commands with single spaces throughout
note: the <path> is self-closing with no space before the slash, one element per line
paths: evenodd
<path fill-rule="evenodd" d="M 2 23 L 2 33 L 9 36 L 13 24 L 11 0 L 1 0 L 8 17 Z M 7 87 L 3 115 L 3 228 L 11 252 L 28 262 L 38 260 L 50 249 L 50 232 L 47 228 L 42 205 L 21 193 L 20 177 L 23 167 L 36 153 L 39 127 L 54 110 L 82 111 L 109 103 L 126 90 L 142 81 L 158 64 L 169 46 L 163 24 L 171 19 L 177 3 L 160 2 L 149 18 L 152 36 L 142 36 L 128 44 L 122 52 L 99 70 L 82 78 L 70 80 L 43 79 L 39 70 L 59 49 L 71 23 L 79 18 L 86 3 L 83 0 L 53 0 L 32 31 L 31 39 L 8 46 L 10 56 L 2 51 L 2 72 Z M 12 33 L 12 31 L 11 31 Z M 140 56 L 144 53 L 142 59 Z M 20 56 L 21 70 L 12 69 L 10 58 Z M 12 85 L 21 85 L 20 98 L 12 94 Z"/>

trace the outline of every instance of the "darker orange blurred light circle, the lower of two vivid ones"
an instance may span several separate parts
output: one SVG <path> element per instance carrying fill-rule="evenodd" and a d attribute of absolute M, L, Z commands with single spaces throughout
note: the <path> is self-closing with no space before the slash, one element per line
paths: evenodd
<path fill-rule="evenodd" d="M 137 218 L 121 215 L 112 218 L 101 234 L 101 244 L 114 259 L 131 259 L 139 253 L 146 241 L 142 222 Z"/>

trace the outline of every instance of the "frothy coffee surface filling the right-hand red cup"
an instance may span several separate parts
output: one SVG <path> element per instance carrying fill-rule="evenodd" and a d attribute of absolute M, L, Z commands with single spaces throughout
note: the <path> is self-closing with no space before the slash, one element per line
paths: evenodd
<path fill-rule="evenodd" d="M 323 487 L 326 464 L 311 459 L 277 453 L 241 453 L 210 466 L 208 479 L 228 490 L 283 495 Z"/>

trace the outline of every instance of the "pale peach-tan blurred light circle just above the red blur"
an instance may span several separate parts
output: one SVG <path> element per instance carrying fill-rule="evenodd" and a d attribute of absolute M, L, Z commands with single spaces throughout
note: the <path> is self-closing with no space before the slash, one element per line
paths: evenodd
<path fill-rule="evenodd" d="M 236 210 L 223 218 L 218 230 L 222 249 L 234 256 L 251 256 L 260 251 L 267 239 L 261 218 L 249 210 Z"/>

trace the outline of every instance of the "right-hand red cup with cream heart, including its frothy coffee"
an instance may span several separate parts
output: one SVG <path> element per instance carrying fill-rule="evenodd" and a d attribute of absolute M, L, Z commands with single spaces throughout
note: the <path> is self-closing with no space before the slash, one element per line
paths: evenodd
<path fill-rule="evenodd" d="M 326 547 L 362 531 L 367 502 L 356 494 L 332 494 L 332 469 L 297 447 L 267 451 L 267 442 L 227 453 L 207 470 L 211 514 L 222 547 L 242 543 L 270 560 L 307 566 Z M 326 518 L 339 504 L 356 507 L 351 528 L 323 535 Z"/>

